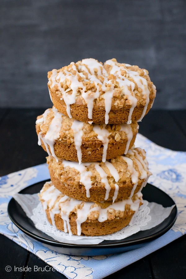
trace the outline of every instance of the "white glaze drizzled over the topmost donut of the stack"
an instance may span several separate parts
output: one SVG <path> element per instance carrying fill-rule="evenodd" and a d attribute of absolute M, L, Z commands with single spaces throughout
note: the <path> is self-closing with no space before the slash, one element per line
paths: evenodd
<path fill-rule="evenodd" d="M 125 70 L 129 77 L 133 78 L 133 80 L 136 82 L 137 86 L 142 88 L 142 94 L 146 95 L 146 105 L 144 106 L 143 113 L 138 121 L 141 121 L 141 119 L 144 117 L 144 114 L 146 112 L 148 103 L 149 103 L 149 90 L 147 86 L 147 81 L 145 78 L 140 77 L 138 72 L 131 71 L 127 67 L 130 67 L 131 65 L 125 64 L 125 66 L 121 65 L 120 67 L 117 66 L 117 62 L 113 60 L 107 60 L 105 64 L 109 64 L 112 66 L 112 69 L 110 71 L 111 74 L 114 74 L 116 76 L 116 82 L 119 83 L 119 86 L 122 88 L 123 94 L 127 95 L 128 100 L 131 101 L 131 108 L 129 111 L 128 121 L 127 124 L 131 123 L 131 116 L 133 113 L 134 108 L 137 106 L 137 98 L 135 97 L 134 88 L 135 83 L 131 82 L 121 74 L 121 70 Z M 72 69 L 75 71 L 75 75 L 71 72 L 64 70 L 64 73 L 59 72 L 57 73 L 57 70 L 52 70 L 52 75 L 49 79 L 49 85 L 52 88 L 56 84 L 58 85 L 59 91 L 61 92 L 62 97 L 61 100 L 64 100 L 66 104 L 66 110 L 67 114 L 70 118 L 71 112 L 70 112 L 70 105 L 74 104 L 76 102 L 77 95 L 79 95 L 79 92 L 81 92 L 83 99 L 85 100 L 88 108 L 88 118 L 92 119 L 92 110 L 94 106 L 94 100 L 96 98 L 100 97 L 100 91 L 105 92 L 102 97 L 104 98 L 105 102 L 105 124 L 108 124 L 109 120 L 109 112 L 111 110 L 112 105 L 112 97 L 114 93 L 114 84 L 108 80 L 108 73 L 104 69 L 103 65 L 96 61 L 95 59 L 83 59 L 82 64 L 78 65 L 78 69 L 76 68 L 76 65 L 74 62 L 70 63 L 72 65 Z M 86 76 L 83 74 L 83 72 L 86 71 L 88 74 L 88 78 L 86 79 Z M 101 82 L 96 76 L 95 73 L 99 76 L 102 75 L 104 78 L 104 81 Z M 144 71 L 144 74 L 146 75 L 146 71 Z M 82 82 L 78 81 L 78 76 L 81 76 L 85 81 L 88 80 L 95 84 L 96 91 L 87 91 L 86 87 L 83 85 Z M 63 88 L 60 86 L 60 83 L 67 81 L 67 85 L 69 88 L 64 91 Z M 109 85 L 109 86 L 108 86 Z M 129 90 L 130 88 L 130 90 Z M 69 94 L 68 92 L 72 90 L 72 93 Z"/>

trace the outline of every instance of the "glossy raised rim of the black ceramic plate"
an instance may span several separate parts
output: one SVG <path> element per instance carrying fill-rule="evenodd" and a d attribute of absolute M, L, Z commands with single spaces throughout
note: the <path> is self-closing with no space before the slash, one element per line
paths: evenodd
<path fill-rule="evenodd" d="M 31 185 L 25 187 L 24 189 L 20 190 L 18 193 L 24 192 L 26 189 L 32 188 L 36 184 L 39 184 L 39 183 L 42 183 L 42 182 L 44 183 L 45 181 L 48 181 L 48 179 L 47 180 L 46 179 L 45 180 L 41 180 L 41 181 L 38 181 L 37 183 L 31 184 Z M 151 241 L 151 240 L 156 239 L 156 238 L 162 236 L 163 234 L 165 234 L 174 225 L 174 223 L 175 223 L 175 221 L 177 219 L 177 216 L 178 216 L 178 210 L 177 210 L 177 206 L 175 204 L 175 201 L 167 193 L 165 193 L 163 190 L 157 188 L 156 186 L 154 186 L 154 185 L 152 185 L 150 183 L 147 183 L 147 185 L 145 187 L 148 187 L 148 185 L 150 185 L 153 188 L 156 188 L 156 190 L 162 192 L 164 195 L 166 195 L 170 199 L 170 201 L 173 203 L 172 206 L 174 205 L 174 208 L 171 210 L 171 213 L 173 212 L 173 210 L 175 211 L 174 218 L 172 219 L 170 224 L 168 226 L 166 226 L 164 229 L 160 230 L 160 232 L 157 232 L 155 234 L 151 233 L 149 236 L 138 237 L 138 238 L 136 238 L 134 240 L 128 240 L 127 241 L 127 240 L 125 240 L 127 238 L 124 238 L 124 239 L 121 239 L 121 240 L 113 240 L 113 241 L 117 241 L 115 243 L 114 242 L 102 243 L 102 242 L 104 242 L 104 241 L 102 241 L 102 242 L 100 242 L 98 244 L 74 244 L 74 243 L 60 242 L 60 241 L 57 241 L 55 239 L 54 240 L 45 239 L 44 237 L 39 236 L 39 235 L 37 235 L 37 234 L 35 234 L 33 232 L 30 232 L 28 229 L 24 228 L 24 226 L 21 225 L 19 221 L 15 220 L 15 218 L 14 218 L 15 216 L 12 216 L 11 203 L 15 202 L 18 206 L 20 206 L 19 203 L 14 199 L 14 197 L 12 197 L 10 199 L 9 203 L 8 203 L 7 212 L 8 212 L 9 218 L 15 224 L 15 226 L 18 227 L 26 235 L 28 235 L 29 237 L 33 238 L 34 240 L 37 240 L 37 241 L 39 241 L 41 243 L 45 243 L 45 244 L 48 244 L 48 245 L 51 245 L 51 246 L 54 246 L 54 247 L 69 248 L 69 249 L 71 249 L 71 248 L 79 248 L 79 249 L 82 249 L 82 248 L 84 248 L 84 249 L 86 249 L 86 248 L 93 248 L 93 249 L 103 248 L 103 249 L 107 249 L 108 248 L 109 249 L 111 247 L 119 248 L 119 247 L 126 247 L 126 246 L 134 246 L 134 245 L 138 245 L 139 243 L 145 243 L 145 242 Z M 39 189 L 39 191 L 40 191 L 40 189 Z M 20 209 L 24 212 L 24 210 L 22 209 L 21 206 L 20 206 Z M 25 214 L 25 212 L 24 212 L 24 214 Z M 26 216 L 26 217 L 33 223 L 33 221 L 28 216 Z M 169 217 L 170 217 L 170 215 L 167 218 L 169 218 Z M 160 224 L 162 224 L 162 223 L 160 223 Z M 34 226 L 34 224 L 33 224 L 33 226 Z M 35 226 L 34 226 L 34 228 L 35 228 Z M 35 229 L 38 230 L 37 228 L 35 228 Z M 38 230 L 38 231 L 40 231 L 40 230 Z M 148 231 L 148 230 L 146 230 L 146 231 Z M 42 232 L 42 233 L 44 233 L 44 232 Z M 47 236 L 47 234 L 46 234 L 46 236 Z"/>

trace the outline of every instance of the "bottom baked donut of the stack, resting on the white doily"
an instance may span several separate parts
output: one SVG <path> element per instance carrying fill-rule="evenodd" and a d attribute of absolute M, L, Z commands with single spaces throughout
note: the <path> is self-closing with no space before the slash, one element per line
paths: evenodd
<path fill-rule="evenodd" d="M 86 236 L 121 230 L 143 203 L 141 193 L 114 203 L 78 201 L 62 194 L 51 181 L 44 184 L 39 199 L 51 225 L 69 235 Z"/>

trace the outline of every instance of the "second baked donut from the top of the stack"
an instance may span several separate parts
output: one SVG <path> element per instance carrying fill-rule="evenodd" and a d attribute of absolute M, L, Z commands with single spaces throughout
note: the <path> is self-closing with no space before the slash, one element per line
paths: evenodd
<path fill-rule="evenodd" d="M 98 162 L 126 154 L 136 138 L 138 123 L 89 124 L 69 118 L 55 107 L 37 117 L 38 144 L 55 159 Z"/>

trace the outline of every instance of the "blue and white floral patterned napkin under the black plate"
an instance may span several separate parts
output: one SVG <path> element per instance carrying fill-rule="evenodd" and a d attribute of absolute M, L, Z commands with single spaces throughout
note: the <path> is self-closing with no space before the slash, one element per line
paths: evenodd
<path fill-rule="evenodd" d="M 0 232 L 29 250 L 67 278 L 104 278 L 143 258 L 186 233 L 186 152 L 162 148 L 138 134 L 135 146 L 144 148 L 153 175 L 148 182 L 162 189 L 175 201 L 178 217 L 173 227 L 161 237 L 144 243 L 143 247 L 106 256 L 69 256 L 56 253 L 30 239 L 9 219 L 7 206 L 21 189 L 50 179 L 47 164 L 17 171 L 0 178 Z"/>

